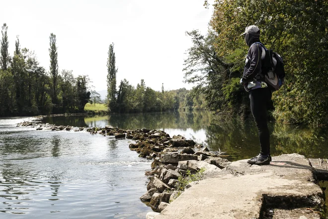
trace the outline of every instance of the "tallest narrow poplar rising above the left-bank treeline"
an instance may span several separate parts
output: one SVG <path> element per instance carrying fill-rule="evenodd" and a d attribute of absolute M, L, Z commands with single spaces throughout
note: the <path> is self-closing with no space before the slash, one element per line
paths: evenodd
<path fill-rule="evenodd" d="M 50 75 L 52 78 L 52 103 L 57 105 L 57 79 L 58 79 L 58 60 L 57 60 L 57 47 L 56 47 L 56 35 L 51 33 L 50 37 Z"/>

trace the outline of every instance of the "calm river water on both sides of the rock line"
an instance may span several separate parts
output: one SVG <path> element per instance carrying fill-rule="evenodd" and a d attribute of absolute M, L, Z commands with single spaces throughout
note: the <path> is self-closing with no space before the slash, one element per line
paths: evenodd
<path fill-rule="evenodd" d="M 87 132 L 15 127 L 28 118 L 0 118 L 0 219 L 145 219 L 150 161 L 128 140 Z M 231 161 L 258 154 L 252 121 L 222 122 L 209 111 L 48 117 L 56 125 L 147 127 L 181 134 L 221 150 Z M 269 123 L 271 154 L 328 158 L 328 129 Z"/>

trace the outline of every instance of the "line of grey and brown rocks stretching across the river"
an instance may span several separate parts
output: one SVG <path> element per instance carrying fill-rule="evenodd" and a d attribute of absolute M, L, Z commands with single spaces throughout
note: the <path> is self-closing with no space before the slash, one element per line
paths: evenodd
<path fill-rule="evenodd" d="M 207 147 L 196 144 L 194 140 L 188 140 L 181 135 L 170 137 L 162 130 L 147 128 L 126 130 L 112 126 L 100 128 L 57 126 L 33 121 L 23 121 L 17 126 L 33 127 L 36 130 L 86 131 L 90 134 L 134 140 L 135 143 L 130 143 L 129 148 L 139 153 L 139 157 L 153 160 L 152 170 L 145 173 L 150 180 L 147 185 L 148 192 L 140 199 L 158 213 L 183 192 L 184 188 L 182 190 L 178 188 L 179 180 L 200 170 L 203 170 L 203 177 L 206 178 L 207 175 L 215 174 L 231 163 L 220 157 L 221 152 L 210 152 Z M 197 182 L 193 184 L 195 183 Z M 188 184 L 186 189 L 193 184 Z M 151 219 L 152 215 L 154 214 L 150 213 L 147 217 Z"/>

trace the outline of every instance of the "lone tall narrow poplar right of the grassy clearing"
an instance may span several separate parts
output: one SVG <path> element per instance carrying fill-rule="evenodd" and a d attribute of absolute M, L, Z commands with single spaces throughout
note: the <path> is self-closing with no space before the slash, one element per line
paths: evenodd
<path fill-rule="evenodd" d="M 116 110 L 116 73 L 114 43 L 109 45 L 107 58 L 107 104 L 111 111 Z"/>

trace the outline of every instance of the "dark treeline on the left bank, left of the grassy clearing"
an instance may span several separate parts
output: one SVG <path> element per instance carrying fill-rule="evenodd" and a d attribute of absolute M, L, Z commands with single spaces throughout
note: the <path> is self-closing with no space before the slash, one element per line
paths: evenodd
<path fill-rule="evenodd" d="M 15 41 L 8 51 L 8 26 L 3 24 L 0 57 L 0 116 L 37 115 L 83 111 L 90 98 L 87 76 L 58 72 L 56 35 L 49 40 L 50 71 L 40 66 L 35 54 Z"/>

